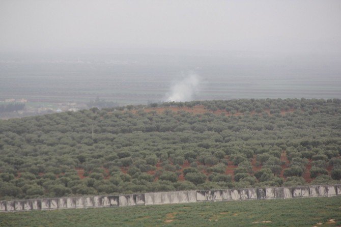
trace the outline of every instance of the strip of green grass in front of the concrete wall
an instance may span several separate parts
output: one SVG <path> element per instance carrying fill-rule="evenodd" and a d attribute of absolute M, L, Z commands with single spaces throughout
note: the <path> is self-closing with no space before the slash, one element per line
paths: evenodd
<path fill-rule="evenodd" d="M 314 225 L 341 225 L 341 196 L 0 213 L 0 226 Z"/>

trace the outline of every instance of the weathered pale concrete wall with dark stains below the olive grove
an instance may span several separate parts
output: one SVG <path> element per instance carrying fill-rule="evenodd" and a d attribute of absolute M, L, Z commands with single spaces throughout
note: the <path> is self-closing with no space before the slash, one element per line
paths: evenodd
<path fill-rule="evenodd" d="M 96 195 L 32 200 L 0 201 L 0 212 L 70 208 L 124 207 L 197 202 L 270 200 L 341 195 L 341 185 L 268 187 L 198 191 L 165 191 L 128 195 Z"/>

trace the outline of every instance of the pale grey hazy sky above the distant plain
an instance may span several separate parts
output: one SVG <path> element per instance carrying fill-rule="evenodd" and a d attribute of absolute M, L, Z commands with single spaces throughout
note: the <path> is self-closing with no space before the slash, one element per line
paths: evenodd
<path fill-rule="evenodd" d="M 341 53 L 341 1 L 0 0 L 0 52 Z"/>

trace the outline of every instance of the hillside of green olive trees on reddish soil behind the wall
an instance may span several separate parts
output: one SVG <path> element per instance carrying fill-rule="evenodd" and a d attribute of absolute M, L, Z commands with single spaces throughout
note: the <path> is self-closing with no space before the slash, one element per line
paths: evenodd
<path fill-rule="evenodd" d="M 152 103 L 0 121 L 0 199 L 336 183 L 339 99 Z"/>

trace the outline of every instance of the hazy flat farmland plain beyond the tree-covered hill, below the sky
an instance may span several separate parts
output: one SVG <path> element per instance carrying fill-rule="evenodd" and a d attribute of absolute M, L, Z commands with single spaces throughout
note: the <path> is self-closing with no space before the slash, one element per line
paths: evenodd
<path fill-rule="evenodd" d="M 341 69 L 333 61 L 286 66 L 278 59 L 262 65 L 257 59 L 208 56 L 111 58 L 115 61 L 0 61 L 0 98 L 86 103 L 99 97 L 121 105 L 146 104 L 165 101 L 174 84 L 191 73 L 198 75 L 192 100 L 341 97 Z"/>

